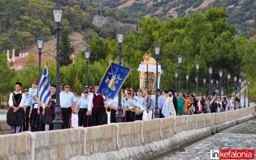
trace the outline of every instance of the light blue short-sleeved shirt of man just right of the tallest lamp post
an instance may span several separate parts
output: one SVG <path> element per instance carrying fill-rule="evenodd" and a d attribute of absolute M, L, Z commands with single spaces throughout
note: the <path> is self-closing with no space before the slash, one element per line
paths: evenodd
<path fill-rule="evenodd" d="M 76 97 L 72 92 L 66 93 L 65 91 L 59 93 L 61 108 L 69 108 L 76 102 Z"/>

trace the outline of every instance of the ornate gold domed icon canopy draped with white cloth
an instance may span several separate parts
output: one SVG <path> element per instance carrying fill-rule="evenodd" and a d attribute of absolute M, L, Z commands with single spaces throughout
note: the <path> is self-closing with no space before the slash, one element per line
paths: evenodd
<path fill-rule="evenodd" d="M 156 60 L 151 57 L 151 54 L 143 55 L 144 61 L 141 61 L 139 65 L 138 71 L 140 76 L 140 88 L 144 90 L 148 89 L 155 90 L 156 89 Z M 147 71 L 148 71 L 148 84 L 147 84 Z M 160 82 L 160 72 L 161 66 L 158 65 L 158 86 Z"/>

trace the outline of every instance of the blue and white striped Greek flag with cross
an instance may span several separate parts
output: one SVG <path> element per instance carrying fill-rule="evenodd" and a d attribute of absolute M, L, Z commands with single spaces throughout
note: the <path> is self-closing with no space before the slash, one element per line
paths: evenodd
<path fill-rule="evenodd" d="M 38 93 L 37 93 L 37 101 L 40 101 L 41 103 L 44 103 L 47 107 L 51 106 L 51 89 L 50 89 L 50 77 L 48 72 L 48 63 L 45 59 L 45 66 L 44 66 L 44 72 L 42 74 L 42 77 L 40 79 L 40 83 L 38 86 Z"/>

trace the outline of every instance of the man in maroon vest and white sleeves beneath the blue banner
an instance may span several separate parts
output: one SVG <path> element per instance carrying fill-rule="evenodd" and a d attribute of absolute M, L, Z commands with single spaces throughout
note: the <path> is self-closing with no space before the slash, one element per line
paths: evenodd
<path fill-rule="evenodd" d="M 88 114 L 92 115 L 93 126 L 108 124 L 108 115 L 103 105 L 107 98 L 97 93 L 99 86 L 100 84 L 95 84 L 95 93 L 90 95 L 88 102 Z"/>

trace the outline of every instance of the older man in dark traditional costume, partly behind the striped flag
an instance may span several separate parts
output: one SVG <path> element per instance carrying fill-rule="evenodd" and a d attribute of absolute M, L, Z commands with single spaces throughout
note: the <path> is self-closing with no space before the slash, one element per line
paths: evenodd
<path fill-rule="evenodd" d="M 55 105 L 56 105 L 56 86 L 54 84 L 51 85 L 50 87 L 51 89 L 51 106 L 50 107 L 46 107 L 45 105 L 43 105 L 43 115 L 44 115 L 44 119 L 43 122 L 45 124 L 45 130 L 53 130 L 53 123 L 52 121 L 55 118 Z"/>

